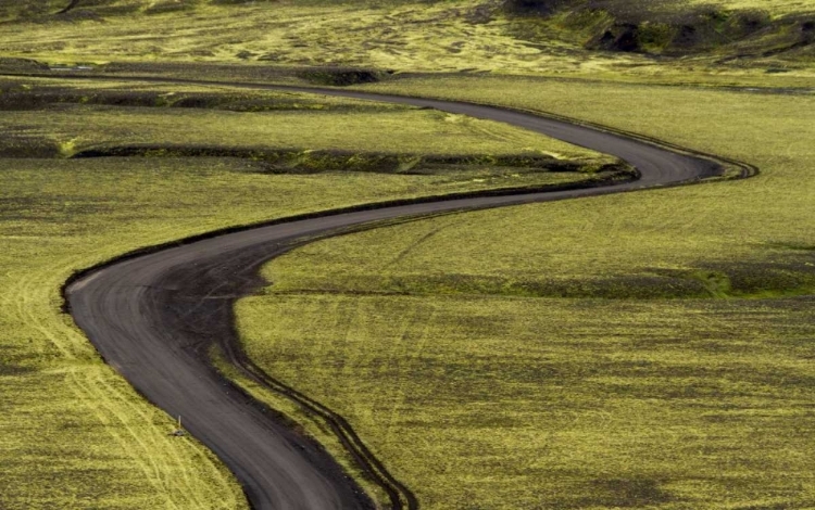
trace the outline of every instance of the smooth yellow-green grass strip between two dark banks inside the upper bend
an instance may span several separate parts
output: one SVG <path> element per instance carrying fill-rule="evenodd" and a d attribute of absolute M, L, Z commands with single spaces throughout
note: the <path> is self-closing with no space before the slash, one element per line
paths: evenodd
<path fill-rule="evenodd" d="M 33 128 L 43 116 L 47 116 L 48 124 L 39 129 Z M 4 112 L 0 122 L 4 132 L 50 135 L 58 143 L 70 144 L 73 151 L 100 145 L 166 143 L 360 152 L 373 149 L 396 154 L 507 155 L 546 152 L 563 158 L 597 155 L 499 123 L 408 109 L 375 113 L 244 113 L 76 105 L 45 113 Z"/>

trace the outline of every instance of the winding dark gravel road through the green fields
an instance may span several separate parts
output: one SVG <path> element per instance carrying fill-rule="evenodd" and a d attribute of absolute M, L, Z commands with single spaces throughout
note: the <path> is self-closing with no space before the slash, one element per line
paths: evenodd
<path fill-rule="evenodd" d="M 641 173 L 638 181 L 611 188 L 439 200 L 278 222 L 125 259 L 87 271 L 70 283 L 65 296 L 71 313 L 104 359 L 150 401 L 171 416 L 183 416 L 189 433 L 235 472 L 258 510 L 373 508 L 318 445 L 291 432 L 273 411 L 226 383 L 208 361 L 213 344 L 235 345 L 233 305 L 263 284 L 256 276 L 262 264 L 306 238 L 374 221 L 630 191 L 722 171 L 712 160 L 498 107 L 346 90 L 243 86 L 388 101 L 488 118 L 616 155 Z M 415 508 L 417 503 L 399 497 L 392 506 Z"/>

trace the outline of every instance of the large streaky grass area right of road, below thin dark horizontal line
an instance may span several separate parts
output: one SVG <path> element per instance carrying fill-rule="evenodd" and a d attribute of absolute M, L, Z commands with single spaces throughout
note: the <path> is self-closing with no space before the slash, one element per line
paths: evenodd
<path fill-rule="evenodd" d="M 811 305 L 301 294 L 238 313 L 253 359 L 348 418 L 422 508 L 806 508 Z"/>

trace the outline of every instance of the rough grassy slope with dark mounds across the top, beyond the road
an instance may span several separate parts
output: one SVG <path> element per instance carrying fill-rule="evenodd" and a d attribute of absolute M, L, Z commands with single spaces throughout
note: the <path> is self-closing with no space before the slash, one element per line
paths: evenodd
<path fill-rule="evenodd" d="M 791 0 L 79 0 L 61 12 L 70 3 L 0 1 L 0 55 L 397 72 L 648 74 L 667 64 L 807 76 L 814 59 L 815 8 Z"/>

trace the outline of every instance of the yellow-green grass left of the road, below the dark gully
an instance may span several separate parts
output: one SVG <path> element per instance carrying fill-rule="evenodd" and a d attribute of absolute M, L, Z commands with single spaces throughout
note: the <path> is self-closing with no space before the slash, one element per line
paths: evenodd
<path fill-rule="evenodd" d="M 228 225 L 416 194 L 419 177 L 261 176 L 210 160 L 2 162 L 0 506 L 241 508 L 60 313 L 76 269 Z M 237 168 L 236 168 L 237 166 Z"/>

